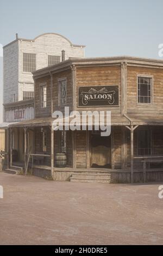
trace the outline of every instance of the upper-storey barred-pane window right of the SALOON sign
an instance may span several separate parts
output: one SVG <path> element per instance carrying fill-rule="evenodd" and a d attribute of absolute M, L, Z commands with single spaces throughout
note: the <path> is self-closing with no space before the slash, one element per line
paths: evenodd
<path fill-rule="evenodd" d="M 138 103 L 152 103 L 151 77 L 138 77 Z"/>

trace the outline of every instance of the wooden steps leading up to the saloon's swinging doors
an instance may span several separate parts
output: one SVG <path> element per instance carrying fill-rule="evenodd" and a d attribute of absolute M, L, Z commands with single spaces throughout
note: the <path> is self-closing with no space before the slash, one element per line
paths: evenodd
<path fill-rule="evenodd" d="M 96 182 L 110 183 L 111 174 L 109 172 L 76 172 L 70 178 L 71 182 Z"/>

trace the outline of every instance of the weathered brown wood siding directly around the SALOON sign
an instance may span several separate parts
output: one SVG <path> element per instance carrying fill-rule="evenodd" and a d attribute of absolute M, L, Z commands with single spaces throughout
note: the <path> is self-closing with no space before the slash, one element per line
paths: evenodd
<path fill-rule="evenodd" d="M 95 107 L 78 108 L 78 86 L 119 86 L 119 106 L 97 107 L 111 110 L 112 114 L 121 113 L 121 65 L 77 68 L 77 109 L 95 109 Z"/>

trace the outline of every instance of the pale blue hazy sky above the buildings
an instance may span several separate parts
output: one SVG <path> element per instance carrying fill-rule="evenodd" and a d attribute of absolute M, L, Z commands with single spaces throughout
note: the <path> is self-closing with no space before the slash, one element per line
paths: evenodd
<path fill-rule="evenodd" d="M 54 32 L 86 45 L 86 57 L 159 58 L 162 21 L 162 0 L 0 0 L 0 44 Z M 2 106 L 2 57 L 0 69 Z"/>

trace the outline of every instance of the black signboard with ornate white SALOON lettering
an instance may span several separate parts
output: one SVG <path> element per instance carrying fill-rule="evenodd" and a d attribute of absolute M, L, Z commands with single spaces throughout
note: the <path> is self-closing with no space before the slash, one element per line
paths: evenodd
<path fill-rule="evenodd" d="M 118 86 L 78 87 L 78 107 L 118 106 Z"/>

